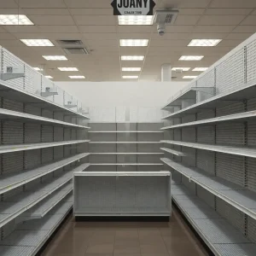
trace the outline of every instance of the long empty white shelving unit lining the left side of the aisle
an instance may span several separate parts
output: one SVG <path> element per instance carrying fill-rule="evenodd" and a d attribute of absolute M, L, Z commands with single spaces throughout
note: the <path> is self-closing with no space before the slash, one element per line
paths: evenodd
<path fill-rule="evenodd" d="M 0 60 L 1 72 L 25 70 L 0 80 L 0 255 L 34 256 L 73 207 L 73 172 L 89 166 L 89 117 L 8 50 Z"/>

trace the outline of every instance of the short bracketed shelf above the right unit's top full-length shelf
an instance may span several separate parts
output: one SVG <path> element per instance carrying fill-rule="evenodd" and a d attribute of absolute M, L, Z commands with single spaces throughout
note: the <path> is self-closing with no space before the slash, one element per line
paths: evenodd
<path fill-rule="evenodd" d="M 163 108 L 172 108 L 173 106 L 182 106 L 183 100 L 196 100 L 196 93 L 200 91 L 207 95 L 214 95 L 214 87 L 190 87 L 187 90 L 184 90 L 178 96 L 174 96 L 170 102 L 166 104 Z"/>

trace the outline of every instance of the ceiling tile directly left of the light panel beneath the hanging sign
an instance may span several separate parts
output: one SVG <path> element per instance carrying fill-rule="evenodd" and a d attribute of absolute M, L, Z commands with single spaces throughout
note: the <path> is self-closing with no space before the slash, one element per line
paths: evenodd
<path fill-rule="evenodd" d="M 74 15 L 73 17 L 78 25 L 116 25 L 117 22 L 116 16 L 110 15 Z"/>

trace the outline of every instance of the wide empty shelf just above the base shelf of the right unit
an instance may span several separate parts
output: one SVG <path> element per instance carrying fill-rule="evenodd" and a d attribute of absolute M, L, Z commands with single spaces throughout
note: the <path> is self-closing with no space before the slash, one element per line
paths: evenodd
<path fill-rule="evenodd" d="M 206 172 L 195 167 L 184 166 L 181 163 L 168 159 L 161 159 L 166 165 L 172 169 L 189 177 L 189 180 L 197 183 L 202 188 L 207 189 L 213 195 L 228 202 L 231 206 L 236 207 L 241 212 L 256 219 L 256 194 L 239 186 L 230 183 L 221 177 L 210 176 Z"/>

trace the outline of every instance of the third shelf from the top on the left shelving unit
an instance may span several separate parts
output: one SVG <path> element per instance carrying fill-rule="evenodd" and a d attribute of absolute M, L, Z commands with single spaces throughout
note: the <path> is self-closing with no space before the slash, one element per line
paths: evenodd
<path fill-rule="evenodd" d="M 0 154 L 9 153 L 9 152 L 17 152 L 23 150 L 32 150 L 38 148 L 51 148 L 51 147 L 59 147 L 66 145 L 73 145 L 79 143 L 89 143 L 89 140 L 76 140 L 76 141 L 63 141 L 59 143 L 31 143 L 31 144 L 17 144 L 17 145 L 1 145 L 0 146 Z"/>

